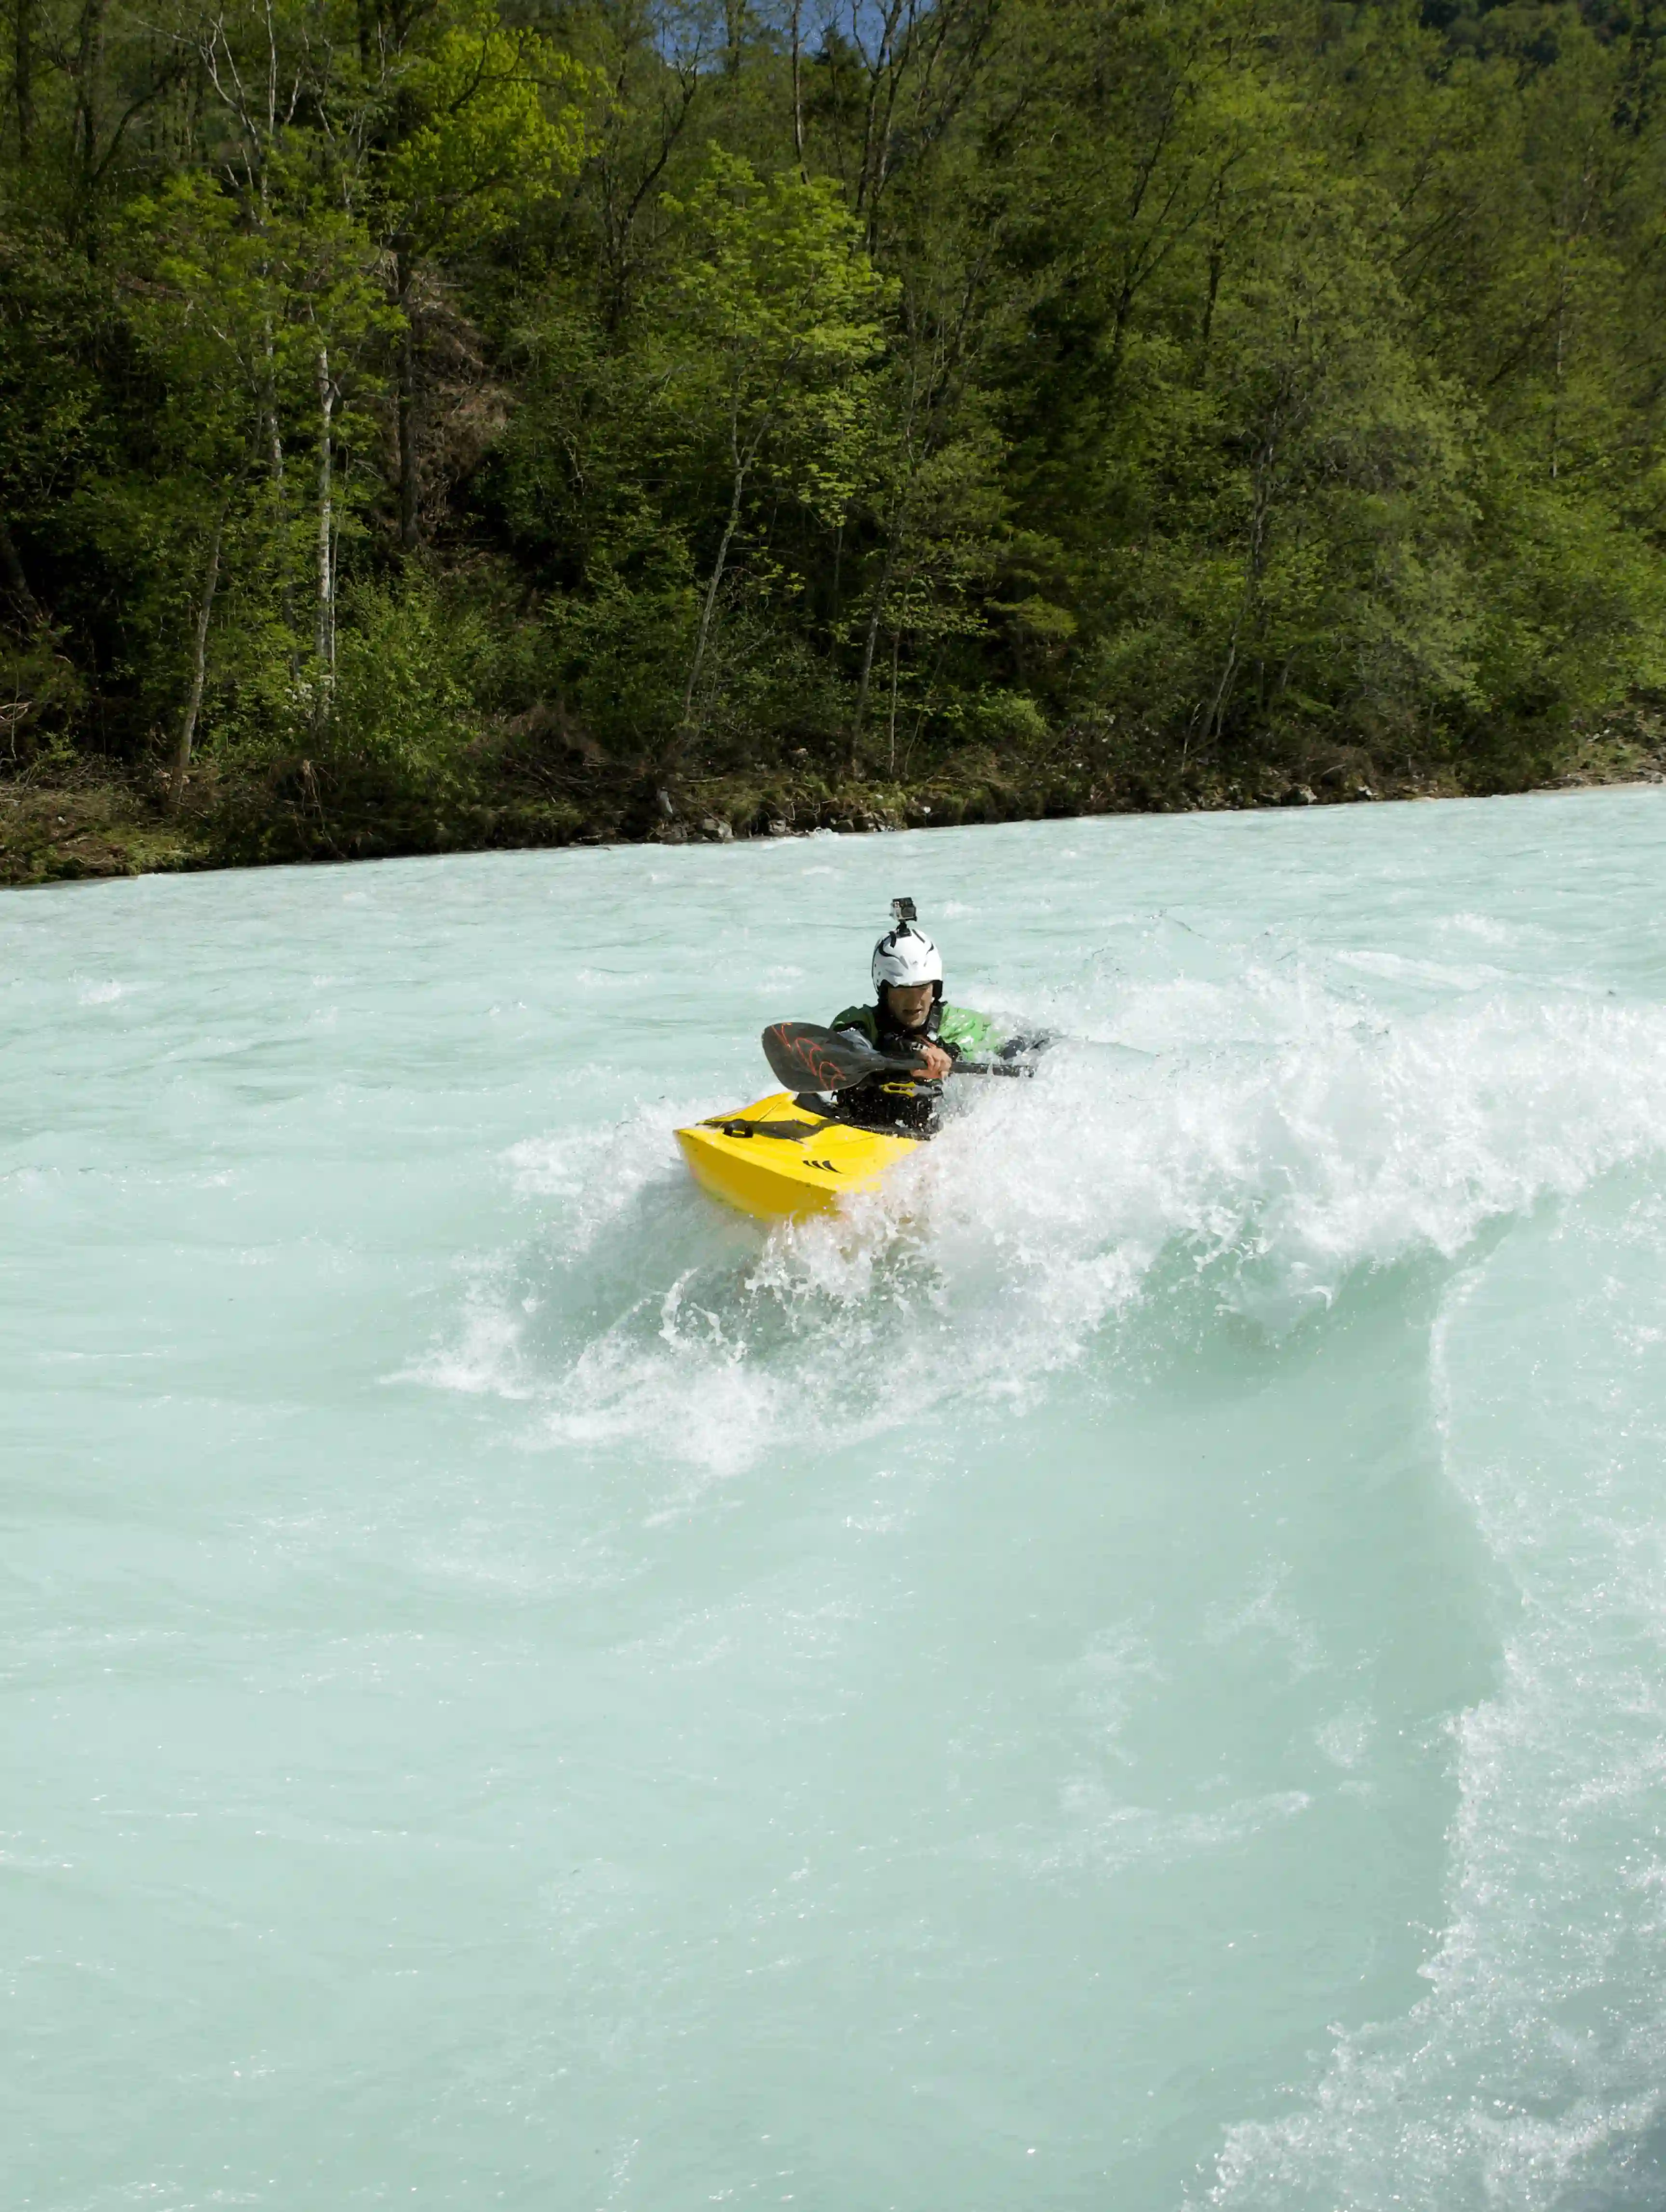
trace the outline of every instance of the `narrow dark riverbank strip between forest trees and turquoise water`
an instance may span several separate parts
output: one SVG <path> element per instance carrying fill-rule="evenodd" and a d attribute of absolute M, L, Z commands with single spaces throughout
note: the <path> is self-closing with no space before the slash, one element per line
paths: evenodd
<path fill-rule="evenodd" d="M 0 779 L 0 887 L 184 874 L 308 860 L 613 843 L 728 843 L 814 830 L 883 832 L 1084 814 L 1370 805 L 1498 796 L 1507 790 L 1666 781 L 1666 726 L 1626 717 L 1575 739 L 1542 774 L 1500 779 L 1485 763 L 1407 763 L 1361 750 L 1299 770 L 1155 774 L 1069 759 L 958 759 L 951 774 L 830 779 L 808 765 L 688 779 L 573 776 L 549 787 L 482 781 L 445 796 L 332 785 L 308 761 L 261 779 L 195 776 L 170 812 L 157 774 L 38 768 Z"/>

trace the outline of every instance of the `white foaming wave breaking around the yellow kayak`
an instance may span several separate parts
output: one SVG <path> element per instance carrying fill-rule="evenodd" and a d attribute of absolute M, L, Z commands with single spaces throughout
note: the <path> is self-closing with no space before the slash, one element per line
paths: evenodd
<path fill-rule="evenodd" d="M 1122 1051 L 967 1079 L 881 1190 L 770 1234 L 693 1190 L 670 1106 L 516 1146 L 544 1228 L 423 1371 L 533 1398 L 549 1444 L 633 1438 L 730 1475 L 834 1411 L 872 1440 L 947 1405 L 1022 1409 L 1084 1363 L 1115 1378 L 1179 1307 L 1179 1340 L 1283 1338 L 1352 1276 L 1449 1267 L 1666 1144 L 1655 1006 L 1498 989 L 1405 1013 L 1334 971 L 1219 967 L 1122 975 L 1097 1024 Z"/>

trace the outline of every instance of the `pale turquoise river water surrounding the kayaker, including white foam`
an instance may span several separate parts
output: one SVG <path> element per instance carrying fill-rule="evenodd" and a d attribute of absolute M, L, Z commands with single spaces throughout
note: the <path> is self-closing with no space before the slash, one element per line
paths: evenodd
<path fill-rule="evenodd" d="M 766 1234 L 679 1119 L 962 1082 Z M 7 2212 L 1666 2201 L 1666 792 L 0 902 Z"/>

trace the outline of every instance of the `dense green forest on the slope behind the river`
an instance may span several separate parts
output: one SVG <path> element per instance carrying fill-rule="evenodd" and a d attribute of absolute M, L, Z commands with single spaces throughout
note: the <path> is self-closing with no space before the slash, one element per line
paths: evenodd
<path fill-rule="evenodd" d="M 7 0 L 11 880 L 1653 759 L 1651 4 Z"/>

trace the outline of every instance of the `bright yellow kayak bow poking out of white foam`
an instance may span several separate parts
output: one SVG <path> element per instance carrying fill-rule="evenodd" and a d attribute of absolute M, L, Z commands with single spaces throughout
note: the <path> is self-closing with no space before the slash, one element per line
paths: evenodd
<path fill-rule="evenodd" d="M 918 1139 L 830 1121 L 777 1091 L 757 1106 L 679 1128 L 677 1144 L 715 1199 L 779 1221 L 832 1212 L 847 1190 L 872 1190 Z"/>

